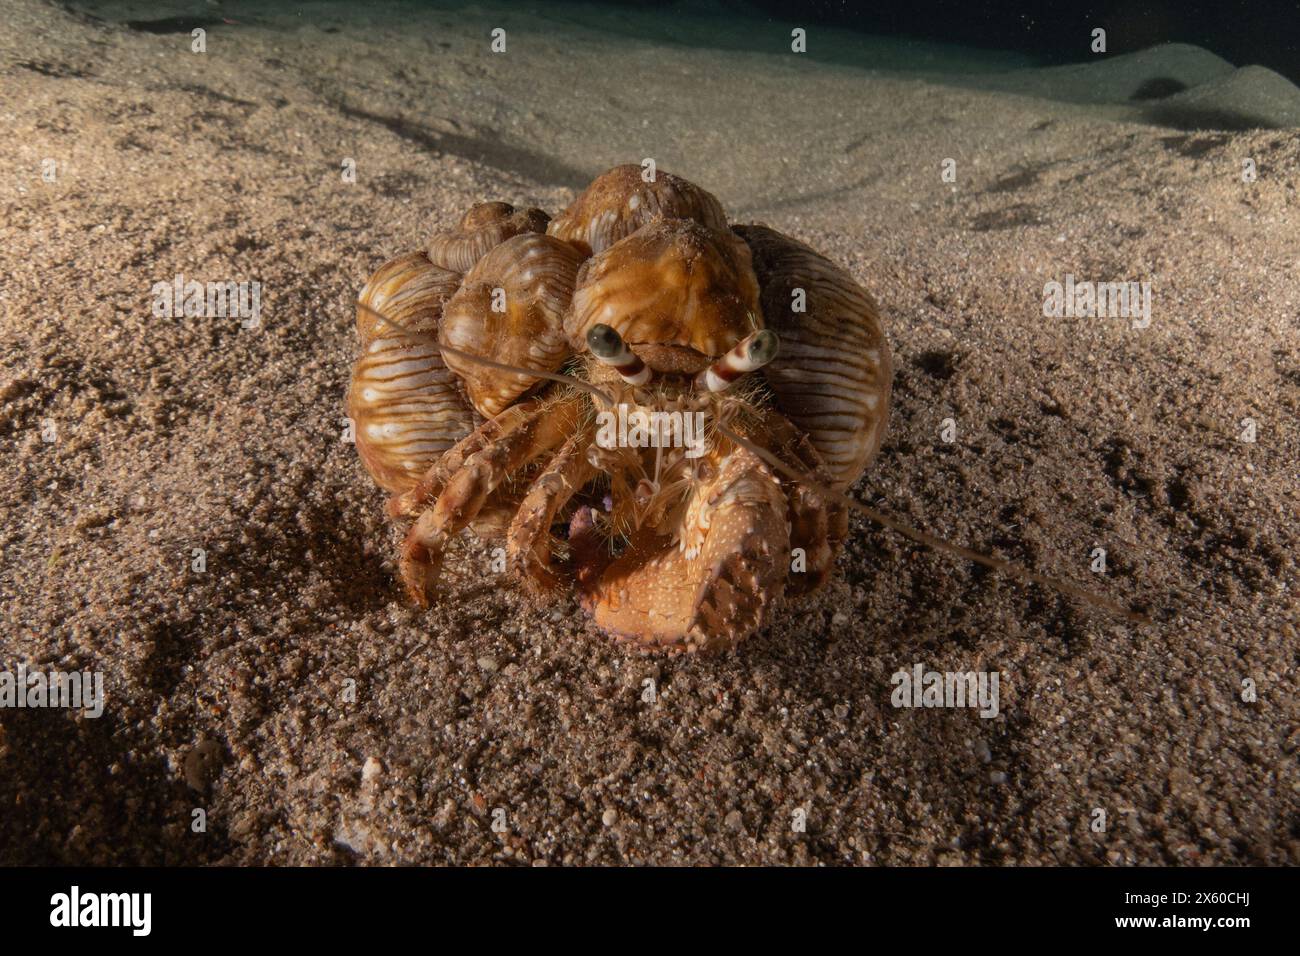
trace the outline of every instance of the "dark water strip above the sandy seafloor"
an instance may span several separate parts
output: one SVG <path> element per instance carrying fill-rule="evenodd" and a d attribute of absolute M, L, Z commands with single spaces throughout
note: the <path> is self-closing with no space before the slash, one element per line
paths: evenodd
<path fill-rule="evenodd" d="M 82 0 L 68 7 L 108 20 L 129 21 L 151 33 L 185 33 L 221 23 L 224 14 L 257 13 L 311 18 L 324 9 L 312 0 Z M 330 14 L 338 13 L 329 4 Z M 351 5 L 359 23 L 403 7 L 455 12 L 460 8 L 516 8 L 594 30 L 655 43 L 720 49 L 788 52 L 789 30 L 774 23 L 837 27 L 812 36 L 811 60 L 864 65 L 854 35 L 876 43 L 876 65 L 902 70 L 984 73 L 1023 66 L 1096 62 L 1092 30 L 1106 30 L 1106 56 L 1161 43 L 1191 43 L 1235 66 L 1261 65 L 1300 85 L 1300 0 L 389 0 Z M 147 10 L 152 10 L 147 14 Z M 382 10 L 382 12 L 381 12 Z M 948 48 L 945 49 L 942 46 Z M 994 53 L 996 51 L 996 53 Z M 983 52 L 983 55 L 982 55 Z"/>

